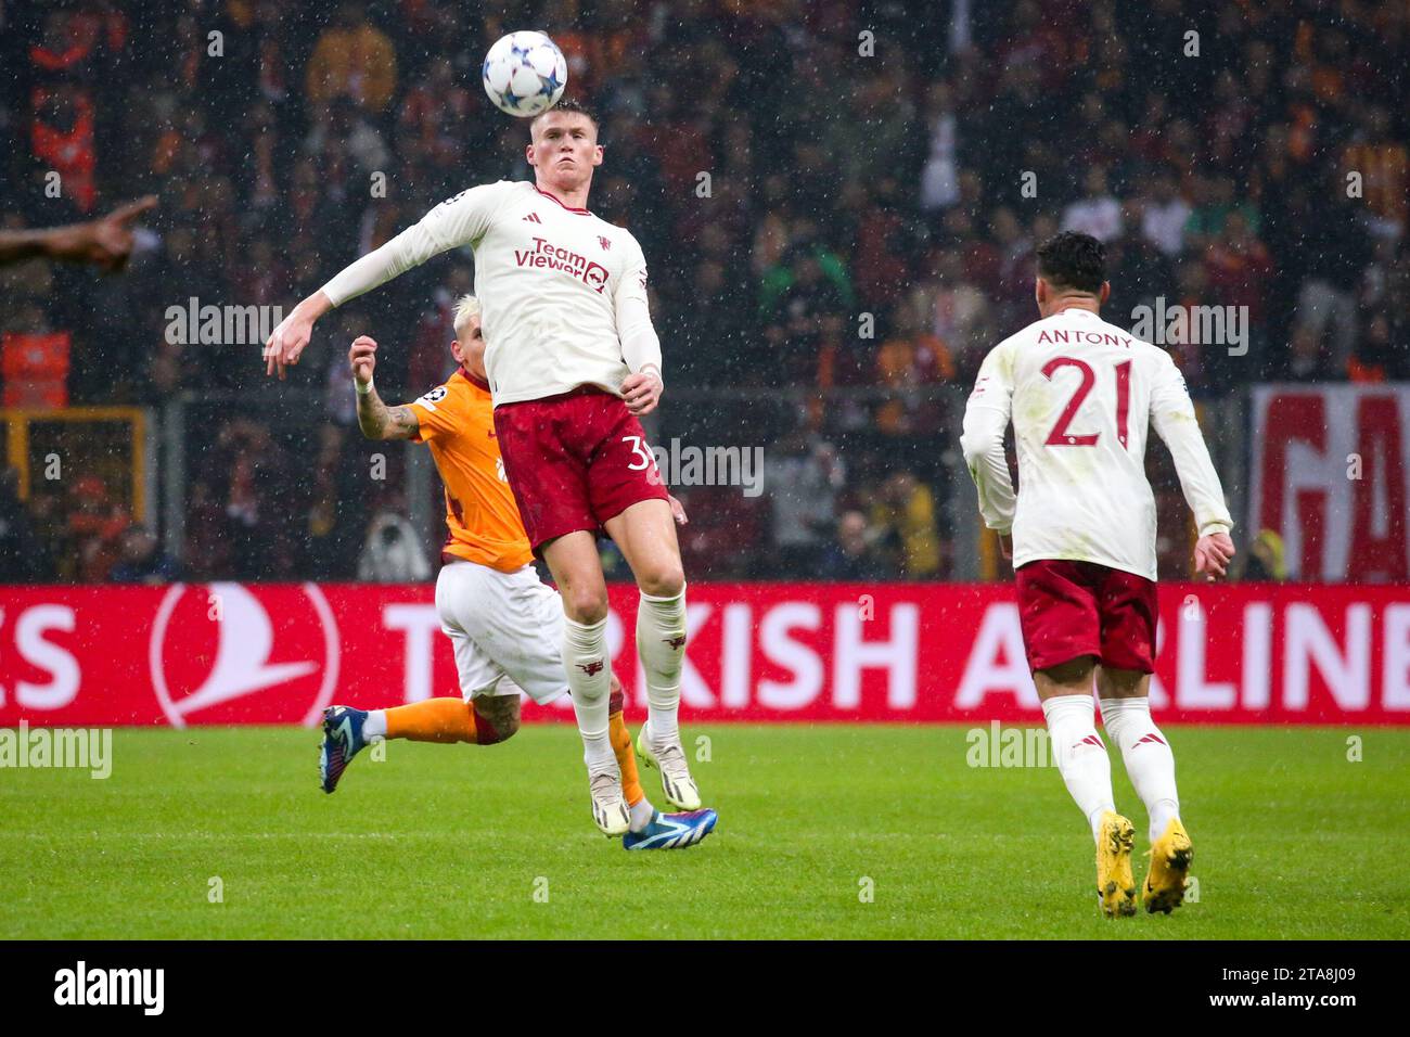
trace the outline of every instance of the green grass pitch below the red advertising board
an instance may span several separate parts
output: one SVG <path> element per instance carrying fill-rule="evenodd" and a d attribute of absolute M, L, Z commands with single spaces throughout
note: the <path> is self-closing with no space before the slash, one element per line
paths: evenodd
<path fill-rule="evenodd" d="M 653 854 L 596 834 L 567 725 L 391 742 L 334 796 L 312 731 L 117 729 L 107 780 L 0 770 L 0 937 L 1410 935 L 1410 731 L 1166 728 L 1198 900 L 1107 921 L 1058 772 L 970 768 L 966 729 L 687 727 L 721 824 Z"/>

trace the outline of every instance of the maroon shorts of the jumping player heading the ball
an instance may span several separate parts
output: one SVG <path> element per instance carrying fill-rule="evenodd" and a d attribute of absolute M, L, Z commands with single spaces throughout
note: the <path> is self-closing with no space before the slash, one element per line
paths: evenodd
<path fill-rule="evenodd" d="M 582 387 L 495 408 L 505 475 L 529 543 L 602 523 L 637 501 L 668 499 L 646 433 L 620 396 Z"/>

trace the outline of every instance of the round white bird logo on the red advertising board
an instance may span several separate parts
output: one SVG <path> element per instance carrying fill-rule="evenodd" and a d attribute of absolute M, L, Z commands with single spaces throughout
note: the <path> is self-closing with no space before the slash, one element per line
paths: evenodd
<path fill-rule="evenodd" d="M 157 610 L 148 646 L 157 701 L 176 728 L 312 727 L 333 700 L 338 662 L 337 621 L 312 583 L 258 591 L 176 584 Z"/>

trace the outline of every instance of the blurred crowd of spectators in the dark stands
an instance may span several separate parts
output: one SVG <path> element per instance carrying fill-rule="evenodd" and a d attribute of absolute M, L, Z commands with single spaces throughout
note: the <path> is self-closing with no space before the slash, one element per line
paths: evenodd
<path fill-rule="evenodd" d="M 678 392 L 711 442 L 766 447 L 760 497 L 682 491 L 692 574 L 945 578 L 956 392 L 1034 319 L 1034 247 L 1059 229 L 1107 243 L 1117 322 L 1158 299 L 1246 308 L 1246 353 L 1167 343 L 1197 398 L 1410 378 L 1403 4 L 492 8 L 0 0 L 0 226 L 161 199 L 121 277 L 3 275 L 7 354 L 59 343 L 62 368 L 35 401 L 7 364 L 6 405 L 219 401 L 186 412 L 179 563 L 99 475 L 32 480 L 23 502 L 7 478 L 0 580 L 424 578 L 434 549 L 400 463 L 368 477 L 344 353 L 384 343 L 388 398 L 434 385 L 470 254 L 338 310 L 282 387 L 262 339 L 192 343 L 168 308 L 292 306 L 443 198 L 526 178 L 525 126 L 479 87 L 512 28 L 547 28 L 603 119 L 592 209 L 651 262 L 658 435 L 706 427 L 677 427 Z M 1184 571 L 1183 504 L 1162 508 Z"/>

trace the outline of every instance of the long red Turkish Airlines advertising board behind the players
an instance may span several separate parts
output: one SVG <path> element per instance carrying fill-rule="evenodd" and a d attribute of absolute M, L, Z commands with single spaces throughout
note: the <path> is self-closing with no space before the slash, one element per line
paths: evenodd
<path fill-rule="evenodd" d="M 682 717 L 1042 722 L 1010 586 L 691 584 Z M 636 590 L 613 667 L 644 707 Z M 1410 724 L 1410 587 L 1163 584 L 1162 720 Z M 430 584 L 0 587 L 0 727 L 317 722 L 458 694 Z M 564 697 L 526 703 L 565 720 Z"/>

